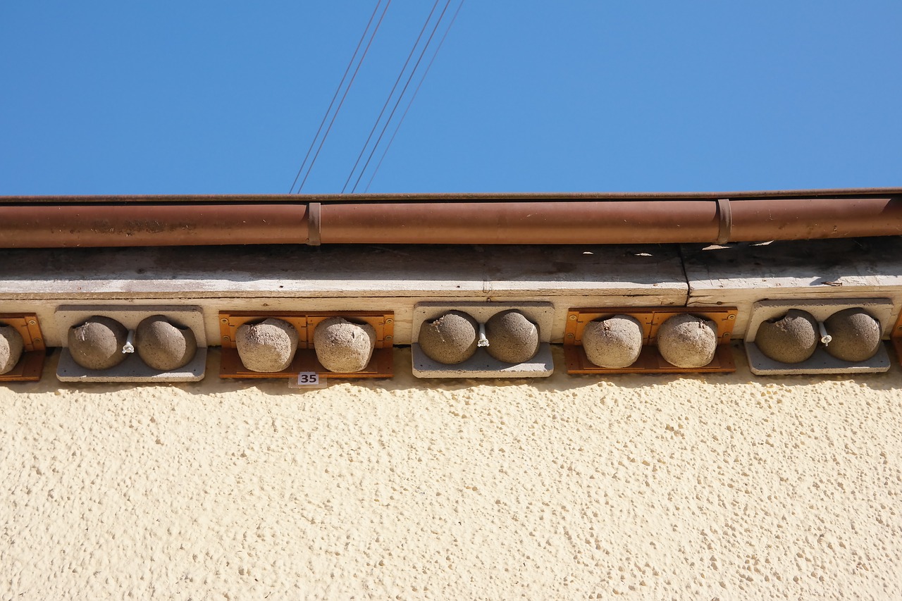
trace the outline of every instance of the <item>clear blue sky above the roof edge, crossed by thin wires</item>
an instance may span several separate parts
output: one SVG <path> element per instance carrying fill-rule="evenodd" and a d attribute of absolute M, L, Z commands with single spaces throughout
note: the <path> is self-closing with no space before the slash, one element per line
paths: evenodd
<path fill-rule="evenodd" d="M 0 195 L 288 192 L 375 5 L 2 3 Z M 304 192 L 431 6 L 391 2 Z M 902 186 L 900 32 L 899 0 L 467 0 L 370 191 Z"/>

